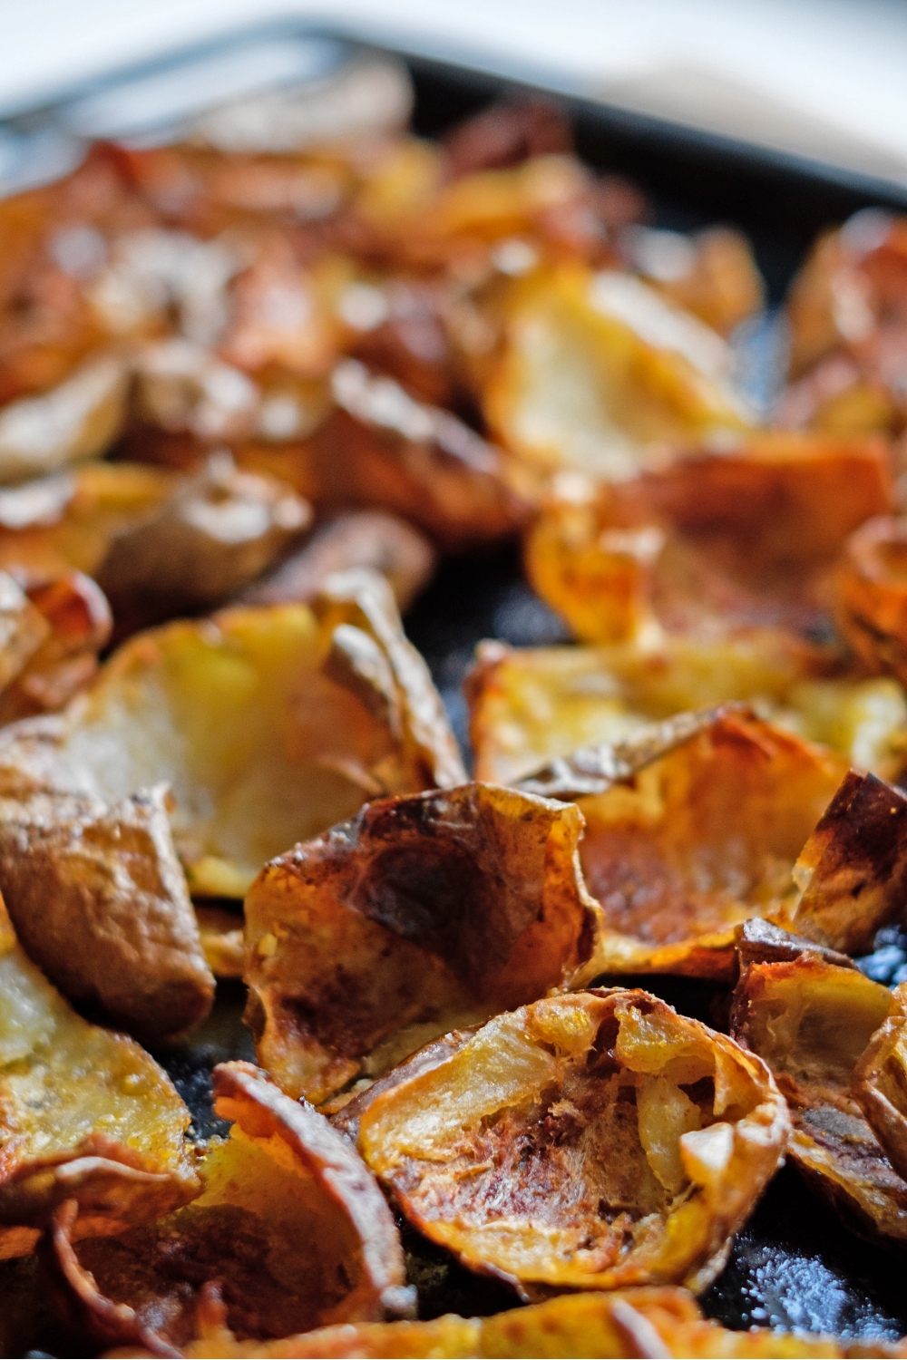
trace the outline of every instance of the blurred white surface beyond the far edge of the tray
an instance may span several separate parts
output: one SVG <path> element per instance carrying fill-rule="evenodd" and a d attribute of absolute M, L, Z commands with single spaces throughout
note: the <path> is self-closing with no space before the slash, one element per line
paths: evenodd
<path fill-rule="evenodd" d="M 904 0 L 0 0 L 0 107 L 280 15 L 907 185 Z"/>

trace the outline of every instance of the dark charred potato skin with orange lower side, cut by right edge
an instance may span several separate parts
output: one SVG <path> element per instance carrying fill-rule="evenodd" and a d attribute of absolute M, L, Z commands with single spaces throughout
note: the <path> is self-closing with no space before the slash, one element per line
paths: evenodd
<path fill-rule="evenodd" d="M 797 857 L 800 894 L 779 919 L 846 953 L 872 949 L 907 892 L 907 797 L 851 770 Z"/>

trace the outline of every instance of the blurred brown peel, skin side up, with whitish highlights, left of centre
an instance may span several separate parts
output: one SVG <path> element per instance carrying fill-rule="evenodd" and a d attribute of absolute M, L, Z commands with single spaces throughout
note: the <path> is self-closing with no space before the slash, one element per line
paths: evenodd
<path fill-rule="evenodd" d="M 97 568 L 118 634 L 223 602 L 310 520 L 311 507 L 290 487 L 212 454 L 156 515 L 117 534 Z"/>

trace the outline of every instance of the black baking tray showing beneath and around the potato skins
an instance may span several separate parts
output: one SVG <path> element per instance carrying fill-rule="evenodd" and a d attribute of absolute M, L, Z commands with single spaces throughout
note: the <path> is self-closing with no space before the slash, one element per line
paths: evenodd
<path fill-rule="evenodd" d="M 0 117 L 0 193 L 65 173 L 87 135 L 128 132 L 165 140 L 199 101 L 213 103 L 317 78 L 355 50 L 390 49 L 358 44 L 355 35 L 325 26 L 271 23 L 56 91 L 29 109 L 0 107 L 0 116 L 5 114 Z M 817 231 L 862 207 L 907 208 L 906 190 L 829 166 L 630 114 L 549 86 L 504 80 L 400 49 L 392 54 L 411 72 L 413 125 L 422 135 L 437 136 L 502 95 L 541 92 L 570 113 L 577 148 L 589 165 L 639 184 L 650 199 L 654 226 L 689 230 L 726 222 L 741 227 L 753 245 L 770 303 L 767 320 L 744 335 L 740 354 L 756 401 L 767 403 L 776 385 L 783 358 L 776 309 Z M 515 646 L 567 641 L 560 620 L 525 583 L 513 544 L 447 559 L 405 624 L 464 745 L 461 685 L 475 645 L 483 638 Z M 888 930 L 876 944 L 876 953 L 863 962 L 866 971 L 887 983 L 902 981 L 900 970 L 907 976 L 907 936 Z M 639 981 L 679 1010 L 714 1023 L 719 998 L 711 983 Z M 242 1008 L 242 986 L 220 983 L 209 1019 L 186 1042 L 155 1053 L 192 1110 L 200 1138 L 224 1129 L 211 1108 L 211 1068 L 253 1057 Z M 503 1285 L 464 1270 L 405 1225 L 404 1242 L 422 1316 L 515 1306 Z M 847 1232 L 790 1167 L 768 1187 L 737 1236 L 723 1274 L 702 1302 L 708 1315 L 730 1327 L 806 1327 L 854 1338 L 907 1333 L 903 1258 Z"/>

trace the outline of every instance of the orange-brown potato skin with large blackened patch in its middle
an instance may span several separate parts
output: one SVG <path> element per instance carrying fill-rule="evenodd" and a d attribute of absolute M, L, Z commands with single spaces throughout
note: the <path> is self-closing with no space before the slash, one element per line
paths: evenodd
<path fill-rule="evenodd" d="M 598 911 L 577 808 L 465 785 L 363 808 L 246 898 L 258 1061 L 321 1102 L 456 1025 L 570 983 Z"/>

